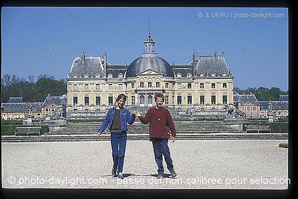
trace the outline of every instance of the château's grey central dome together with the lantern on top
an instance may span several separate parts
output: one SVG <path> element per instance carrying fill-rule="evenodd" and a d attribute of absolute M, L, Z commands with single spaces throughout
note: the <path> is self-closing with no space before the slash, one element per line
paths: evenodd
<path fill-rule="evenodd" d="M 137 73 L 151 69 L 162 73 L 164 77 L 174 77 L 172 67 L 167 61 L 157 56 L 154 52 L 154 40 L 150 36 L 150 32 L 145 44 L 145 52 L 142 57 L 135 59 L 127 68 L 126 77 L 136 77 Z"/>

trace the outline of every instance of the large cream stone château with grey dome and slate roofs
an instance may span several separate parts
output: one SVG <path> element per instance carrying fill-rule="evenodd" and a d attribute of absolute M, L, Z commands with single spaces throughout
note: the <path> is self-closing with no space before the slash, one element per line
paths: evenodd
<path fill-rule="evenodd" d="M 233 104 L 233 76 L 224 55 L 192 55 L 185 65 L 170 65 L 155 53 L 153 38 L 144 42 L 141 57 L 130 65 L 113 65 L 107 54 L 74 57 L 67 77 L 67 112 L 94 112 L 113 106 L 119 94 L 127 96 L 126 107 L 150 107 L 154 95 L 165 96 L 169 108 L 223 109 Z"/>

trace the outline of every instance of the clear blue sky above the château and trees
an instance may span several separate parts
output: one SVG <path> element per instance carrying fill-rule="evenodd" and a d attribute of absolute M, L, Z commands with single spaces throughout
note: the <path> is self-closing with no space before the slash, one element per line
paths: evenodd
<path fill-rule="evenodd" d="M 2 7 L 1 75 L 65 79 L 82 51 L 130 64 L 144 51 L 149 13 L 155 52 L 169 64 L 224 51 L 234 87 L 288 90 L 287 8 Z"/>

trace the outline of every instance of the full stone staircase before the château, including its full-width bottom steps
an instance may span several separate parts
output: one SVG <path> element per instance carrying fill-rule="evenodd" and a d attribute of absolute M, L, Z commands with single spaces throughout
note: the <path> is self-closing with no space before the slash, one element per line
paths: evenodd
<path fill-rule="evenodd" d="M 102 122 L 69 123 L 67 126 L 50 126 L 50 132 L 41 136 L 1 136 L 1 142 L 59 142 L 110 140 L 106 129 L 97 138 L 97 129 Z M 245 133 L 220 121 L 174 122 L 176 140 L 213 139 L 288 139 L 288 133 Z M 149 140 L 149 124 L 135 122 L 128 125 L 127 140 Z"/>

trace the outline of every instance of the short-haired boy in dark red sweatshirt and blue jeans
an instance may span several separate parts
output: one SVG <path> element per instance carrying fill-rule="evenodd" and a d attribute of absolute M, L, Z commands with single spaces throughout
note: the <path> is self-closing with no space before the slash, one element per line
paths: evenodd
<path fill-rule="evenodd" d="M 176 129 L 172 117 L 168 109 L 162 107 L 164 102 L 164 96 L 162 94 L 156 94 L 154 96 L 156 107 L 151 107 L 146 116 L 143 117 L 141 113 L 136 111 L 136 116 L 139 117 L 143 124 L 149 124 L 149 137 L 153 145 L 153 151 L 155 156 L 155 162 L 158 166 L 157 178 L 163 178 L 163 166 L 162 166 L 162 154 L 164 156 L 167 169 L 170 171 L 172 177 L 176 177 L 177 174 L 174 171 L 172 159 L 170 157 L 170 150 L 168 147 L 168 139 L 170 138 L 170 132 L 172 133 L 172 142 L 175 141 Z"/>

